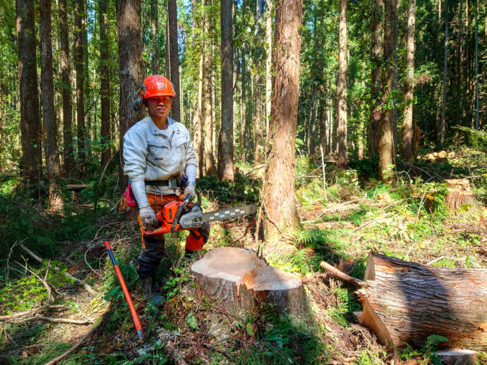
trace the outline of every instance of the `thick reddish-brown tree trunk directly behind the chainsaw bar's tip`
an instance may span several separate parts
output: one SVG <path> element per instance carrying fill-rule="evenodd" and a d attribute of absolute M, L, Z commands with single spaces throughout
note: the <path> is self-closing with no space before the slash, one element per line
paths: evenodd
<path fill-rule="evenodd" d="M 268 163 L 261 199 L 266 212 L 263 216 L 264 234 L 266 240 L 271 241 L 279 237 L 274 224 L 281 231 L 300 226 L 294 196 L 294 144 L 298 117 L 302 6 L 301 0 L 279 0 L 275 4 L 275 52 L 272 54 L 275 78 L 272 82 Z"/>

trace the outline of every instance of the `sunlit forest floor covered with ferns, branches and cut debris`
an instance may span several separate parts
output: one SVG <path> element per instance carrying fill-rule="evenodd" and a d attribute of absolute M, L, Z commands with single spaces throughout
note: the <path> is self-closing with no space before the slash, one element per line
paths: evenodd
<path fill-rule="evenodd" d="M 191 259 L 184 258 L 186 233 L 168 235 L 167 256 L 158 273 L 167 300 L 159 306 L 141 299 L 135 264 L 140 232 L 133 218 L 113 209 L 116 180 L 106 182 L 98 199 L 103 208 L 97 213 L 86 206 L 96 197 L 81 192 L 68 206 L 69 216 L 48 216 L 40 206 L 21 199 L 9 180 L 0 190 L 5 202 L 0 228 L 6 229 L 1 247 L 6 257 L 0 272 L 0 362 L 44 364 L 84 339 L 60 364 L 430 364 L 435 343 L 395 352 L 379 345 L 354 316 L 361 310 L 356 287 L 324 273 L 320 262 L 360 279 L 371 251 L 420 264 L 487 268 L 487 151 L 462 147 L 453 152 L 447 161 L 398 163 L 397 178 L 387 185 L 372 178 L 374 161 L 356 161 L 347 171 L 327 163 L 326 190 L 320 162 L 298 159 L 296 202 L 302 229 L 278 247 L 268 247 L 255 240 L 252 217 L 214 223 L 208 244 Z M 203 211 L 258 202 L 263 169 L 239 169 L 232 184 L 213 178 L 198 182 Z M 455 177 L 469 178 L 479 206 L 448 213 L 442 181 Z M 104 240 L 112 242 L 131 290 L 145 331 L 143 341 L 137 339 Z M 270 308 L 233 318 L 208 299 L 193 297 L 189 266 L 208 250 L 227 246 L 261 246 L 268 264 L 300 276 L 317 328 L 278 316 Z M 42 256 L 42 264 L 23 247 Z M 66 278 L 66 271 L 95 292 Z M 487 354 L 480 352 L 478 361 L 487 364 Z"/>

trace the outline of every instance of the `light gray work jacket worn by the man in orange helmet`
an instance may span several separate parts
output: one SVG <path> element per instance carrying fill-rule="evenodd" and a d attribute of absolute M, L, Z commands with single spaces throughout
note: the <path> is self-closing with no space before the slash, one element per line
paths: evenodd
<path fill-rule="evenodd" d="M 161 130 L 150 116 L 138 121 L 124 135 L 124 174 L 131 181 L 179 180 L 187 166 L 198 162 L 191 145 L 189 132 L 184 125 L 167 118 L 167 128 Z M 187 172 L 188 173 L 188 172 Z M 189 175 L 189 174 L 188 174 Z M 193 180 L 196 176 L 189 176 Z M 179 190 L 167 186 L 145 186 L 145 192 L 179 194 Z"/>

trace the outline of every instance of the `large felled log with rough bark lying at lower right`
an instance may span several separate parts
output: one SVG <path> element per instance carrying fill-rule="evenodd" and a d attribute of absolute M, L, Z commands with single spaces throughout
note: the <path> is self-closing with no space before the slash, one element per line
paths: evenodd
<path fill-rule="evenodd" d="M 487 269 L 436 268 L 371 253 L 359 320 L 387 346 L 487 349 Z"/>

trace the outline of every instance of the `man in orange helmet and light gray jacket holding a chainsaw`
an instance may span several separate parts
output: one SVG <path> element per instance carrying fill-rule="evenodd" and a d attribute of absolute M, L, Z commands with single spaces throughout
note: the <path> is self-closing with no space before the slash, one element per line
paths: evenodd
<path fill-rule="evenodd" d="M 138 204 L 140 230 L 158 225 L 156 213 L 163 204 L 174 199 L 195 197 L 196 154 L 189 132 L 181 123 L 169 118 L 176 97 L 174 87 L 162 75 L 150 75 L 140 86 L 140 97 L 134 109 L 143 106 L 148 116 L 139 120 L 124 135 L 124 173 L 131 182 Z M 187 185 L 181 178 L 187 176 Z M 182 190 L 182 191 L 181 191 Z M 186 256 L 208 241 L 210 225 L 198 228 L 200 237 L 191 232 L 186 238 Z M 164 300 L 157 294 L 155 274 L 164 256 L 164 235 L 144 235 L 138 256 L 137 273 L 145 299 L 155 304 Z"/>

